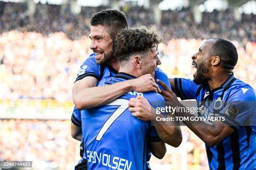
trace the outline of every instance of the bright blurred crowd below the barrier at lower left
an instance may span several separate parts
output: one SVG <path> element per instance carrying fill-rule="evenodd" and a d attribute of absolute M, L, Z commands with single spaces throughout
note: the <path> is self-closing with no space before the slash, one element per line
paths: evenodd
<path fill-rule="evenodd" d="M 0 161 L 33 161 L 37 170 L 74 169 L 77 143 L 69 120 L 0 120 Z"/>

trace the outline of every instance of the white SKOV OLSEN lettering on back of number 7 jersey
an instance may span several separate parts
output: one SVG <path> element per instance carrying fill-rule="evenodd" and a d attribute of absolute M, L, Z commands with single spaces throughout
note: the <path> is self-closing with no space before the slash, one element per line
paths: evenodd
<path fill-rule="evenodd" d="M 105 153 L 87 150 L 87 162 L 98 163 L 114 170 L 130 170 L 132 162 L 119 157 L 113 157 Z"/>

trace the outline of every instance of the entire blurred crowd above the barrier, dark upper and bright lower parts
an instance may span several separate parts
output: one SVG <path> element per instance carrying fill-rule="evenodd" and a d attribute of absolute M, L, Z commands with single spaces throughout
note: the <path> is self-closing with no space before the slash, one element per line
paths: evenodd
<path fill-rule="evenodd" d="M 0 2 L 0 99 L 72 100 L 79 65 L 92 52 L 90 16 L 105 7 L 82 7 L 79 15 L 59 5 L 36 5 L 29 17 L 26 4 Z M 150 10 L 123 6 L 131 26 L 154 23 Z M 203 13 L 195 24 L 191 10 L 163 11 L 160 66 L 169 77 L 192 77 L 190 57 L 210 37 L 232 40 L 239 53 L 237 78 L 256 87 L 255 15 L 240 22 L 228 11 Z"/>

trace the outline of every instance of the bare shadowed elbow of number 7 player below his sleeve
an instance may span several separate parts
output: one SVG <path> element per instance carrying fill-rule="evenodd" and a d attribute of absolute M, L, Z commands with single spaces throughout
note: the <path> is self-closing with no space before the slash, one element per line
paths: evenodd
<path fill-rule="evenodd" d="M 164 155 L 166 153 L 166 146 L 163 141 L 149 142 L 148 149 L 158 159 L 164 158 Z"/>

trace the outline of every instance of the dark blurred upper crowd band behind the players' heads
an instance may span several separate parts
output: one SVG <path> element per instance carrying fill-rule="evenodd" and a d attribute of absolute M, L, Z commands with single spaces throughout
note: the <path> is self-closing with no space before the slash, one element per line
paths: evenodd
<path fill-rule="evenodd" d="M 68 6 L 36 5 L 33 16 L 27 13 L 26 3 L 0 2 L 0 33 L 10 30 L 36 31 L 44 35 L 52 32 L 65 32 L 71 39 L 80 39 L 90 32 L 90 17 L 105 9 L 105 6 L 82 7 L 81 13 L 73 14 Z M 143 6 L 123 5 L 130 26 L 152 25 L 153 11 Z M 157 28 L 164 36 L 164 41 L 178 38 L 210 39 L 222 37 L 237 40 L 243 45 L 256 41 L 256 15 L 242 14 L 241 20 L 234 19 L 231 10 L 202 13 L 202 22 L 197 24 L 193 17 L 193 8 L 162 11 L 162 19 Z"/>

